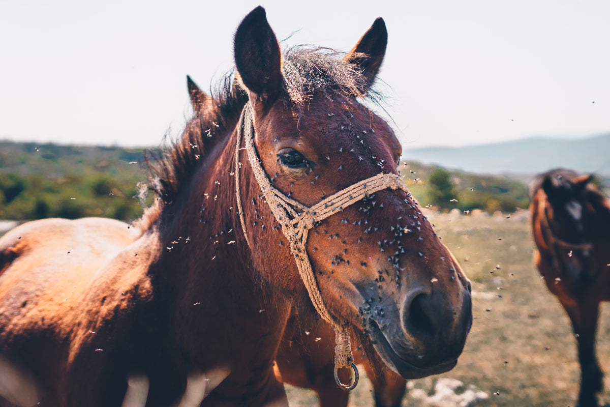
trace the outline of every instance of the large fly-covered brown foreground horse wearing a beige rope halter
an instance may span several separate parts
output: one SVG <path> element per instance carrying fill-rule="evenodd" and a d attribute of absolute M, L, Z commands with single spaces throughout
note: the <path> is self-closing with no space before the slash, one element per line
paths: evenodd
<path fill-rule="evenodd" d="M 2 403 L 284 406 L 273 361 L 292 309 L 332 325 L 335 369 L 354 379 L 351 334 L 404 378 L 456 366 L 470 282 L 363 103 L 386 45 L 379 18 L 346 54 L 282 52 L 256 7 L 213 109 L 149 157 L 140 220 L 5 234 Z"/>

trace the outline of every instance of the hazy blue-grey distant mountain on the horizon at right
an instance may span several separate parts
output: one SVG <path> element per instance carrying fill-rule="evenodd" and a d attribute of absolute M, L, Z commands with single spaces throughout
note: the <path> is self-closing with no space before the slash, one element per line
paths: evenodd
<path fill-rule="evenodd" d="M 474 173 L 534 174 L 565 167 L 610 175 L 610 133 L 587 139 L 530 137 L 466 147 L 404 148 L 403 159 Z"/>

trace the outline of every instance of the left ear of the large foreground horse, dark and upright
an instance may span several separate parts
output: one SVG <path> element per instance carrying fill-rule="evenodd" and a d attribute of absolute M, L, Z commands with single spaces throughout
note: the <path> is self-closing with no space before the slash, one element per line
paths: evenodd
<path fill-rule="evenodd" d="M 235 32 L 235 67 L 251 99 L 273 103 L 282 89 L 282 52 L 262 7 L 256 7 Z"/>

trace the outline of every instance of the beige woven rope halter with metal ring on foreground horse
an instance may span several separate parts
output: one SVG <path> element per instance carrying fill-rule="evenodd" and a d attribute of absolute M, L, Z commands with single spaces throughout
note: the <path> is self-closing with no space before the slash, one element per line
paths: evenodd
<path fill-rule="evenodd" d="M 251 247 L 248 233 L 246 230 L 245 221 L 243 218 L 242 198 L 240 194 L 239 181 L 239 150 L 242 142 L 242 137 L 245 139 L 246 151 L 248 152 L 248 161 L 254 172 L 254 178 L 259 184 L 260 190 L 265 196 L 265 200 L 269 205 L 271 212 L 278 220 L 282 227 L 284 236 L 290 242 L 290 251 L 295 257 L 296 267 L 299 270 L 299 275 L 305 284 L 309 298 L 314 304 L 315 310 L 320 314 L 322 319 L 332 325 L 335 331 L 335 380 L 339 387 L 344 390 L 351 390 L 358 383 L 358 370 L 354 364 L 354 357 L 351 353 L 350 331 L 345 328 L 345 325 L 336 320 L 326 309 L 320 289 L 315 279 L 314 270 L 312 269 L 309 255 L 307 254 L 307 234 L 309 229 L 314 227 L 316 222 L 320 222 L 337 212 L 343 211 L 346 207 L 357 201 L 362 200 L 370 193 L 378 192 L 383 189 L 401 189 L 409 193 L 407 185 L 404 183 L 400 175 L 379 173 L 378 175 L 356 182 L 346 189 L 340 190 L 334 195 L 328 196 L 324 200 L 318 202 L 312 207 L 307 207 L 298 201 L 295 201 L 278 189 L 271 185 L 271 182 L 265 173 L 265 169 L 261 165 L 261 161 L 256 147 L 254 146 L 254 120 L 252 106 L 248 102 L 243 107 L 242 115 L 237 124 L 237 145 L 235 146 L 235 194 L 237 195 L 237 209 L 242 223 L 243 235 Z M 354 370 L 354 383 L 350 386 L 340 383 L 337 376 L 337 369 L 342 367 L 351 367 Z"/>

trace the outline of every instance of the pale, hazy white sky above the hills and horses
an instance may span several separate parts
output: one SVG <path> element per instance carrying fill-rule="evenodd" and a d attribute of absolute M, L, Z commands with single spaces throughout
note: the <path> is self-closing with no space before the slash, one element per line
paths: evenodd
<path fill-rule="evenodd" d="M 610 131 L 610 1 L 0 0 L 0 139 L 157 146 L 257 5 L 282 48 L 348 51 L 376 17 L 404 148 Z M 290 37 L 290 38 L 289 38 Z"/>

